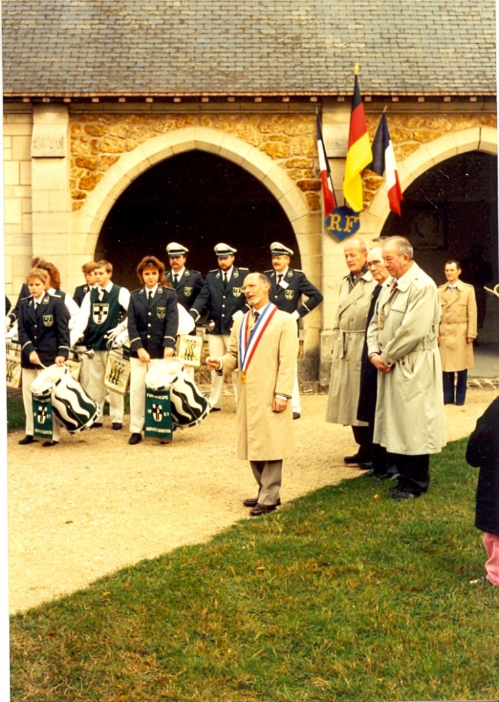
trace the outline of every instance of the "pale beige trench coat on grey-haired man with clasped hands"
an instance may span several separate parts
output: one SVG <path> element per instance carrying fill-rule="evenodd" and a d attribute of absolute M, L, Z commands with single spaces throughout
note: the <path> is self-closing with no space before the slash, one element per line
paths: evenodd
<path fill-rule="evenodd" d="M 374 442 L 390 453 L 418 456 L 445 446 L 442 364 L 437 345 L 437 286 L 417 263 L 383 284 L 367 331 L 369 355 L 392 366 L 378 371 Z"/>

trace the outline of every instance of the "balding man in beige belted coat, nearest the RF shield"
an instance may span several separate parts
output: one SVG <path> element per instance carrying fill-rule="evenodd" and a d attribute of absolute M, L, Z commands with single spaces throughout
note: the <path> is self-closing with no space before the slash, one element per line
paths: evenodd
<path fill-rule="evenodd" d="M 333 359 L 326 421 L 352 427 L 353 437 L 359 446 L 353 456 L 345 456 L 345 463 L 371 468 L 369 426 L 367 422 L 357 419 L 357 405 L 367 314 L 376 281 L 367 270 L 367 248 L 362 239 L 348 239 L 343 252 L 350 272 L 341 281 L 333 327 Z"/>

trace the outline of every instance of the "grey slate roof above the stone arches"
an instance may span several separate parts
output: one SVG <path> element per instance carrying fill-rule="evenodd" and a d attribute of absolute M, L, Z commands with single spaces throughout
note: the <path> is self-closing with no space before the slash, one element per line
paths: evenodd
<path fill-rule="evenodd" d="M 495 0 L 2 0 L 5 95 L 495 94 Z"/>

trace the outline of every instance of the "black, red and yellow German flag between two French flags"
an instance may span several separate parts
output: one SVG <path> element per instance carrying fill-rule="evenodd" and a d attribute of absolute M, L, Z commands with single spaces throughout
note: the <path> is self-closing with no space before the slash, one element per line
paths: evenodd
<path fill-rule="evenodd" d="M 348 152 L 346 154 L 343 195 L 355 212 L 362 211 L 362 171 L 372 161 L 371 143 L 367 133 L 364 103 L 360 95 L 357 67 L 355 67 L 355 88 L 353 91 Z"/>

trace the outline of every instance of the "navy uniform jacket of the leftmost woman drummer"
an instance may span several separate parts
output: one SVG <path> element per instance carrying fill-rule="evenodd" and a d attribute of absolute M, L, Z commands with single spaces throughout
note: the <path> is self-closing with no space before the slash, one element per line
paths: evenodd
<path fill-rule="evenodd" d="M 18 317 L 18 332 L 21 343 L 21 367 L 40 369 L 29 362 L 29 354 L 36 351 L 44 366 L 55 362 L 56 356 L 69 356 L 69 312 L 62 298 L 46 293 L 34 310 L 34 298 L 30 295 L 21 301 Z"/>

